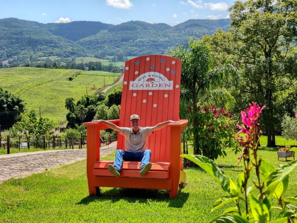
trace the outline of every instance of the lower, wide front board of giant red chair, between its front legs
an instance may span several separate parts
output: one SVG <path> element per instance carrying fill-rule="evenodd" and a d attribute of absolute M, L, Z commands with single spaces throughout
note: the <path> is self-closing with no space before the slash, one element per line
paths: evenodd
<path fill-rule="evenodd" d="M 170 190 L 171 179 L 94 176 L 99 187 L 125 187 Z"/>

